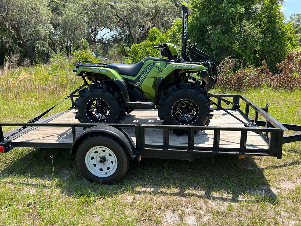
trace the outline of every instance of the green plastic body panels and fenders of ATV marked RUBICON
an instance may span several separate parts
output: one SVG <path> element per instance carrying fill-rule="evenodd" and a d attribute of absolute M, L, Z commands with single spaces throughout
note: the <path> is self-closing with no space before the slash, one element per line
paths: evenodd
<path fill-rule="evenodd" d="M 136 76 L 120 75 L 115 70 L 106 67 L 79 67 L 76 71 L 77 76 L 82 76 L 85 72 L 92 72 L 98 74 L 104 74 L 110 79 L 112 79 L 120 88 L 123 98 L 126 100 L 126 105 L 129 104 L 129 96 L 126 88 L 126 81 L 129 81 L 135 85 L 137 88 L 141 89 L 147 99 L 150 102 L 155 102 L 158 100 L 158 88 L 160 83 L 175 70 L 193 70 L 201 71 L 207 73 L 206 67 L 200 64 L 181 64 L 181 63 L 169 63 L 166 64 L 165 61 L 153 61 L 147 60 L 144 62 L 140 71 Z"/>

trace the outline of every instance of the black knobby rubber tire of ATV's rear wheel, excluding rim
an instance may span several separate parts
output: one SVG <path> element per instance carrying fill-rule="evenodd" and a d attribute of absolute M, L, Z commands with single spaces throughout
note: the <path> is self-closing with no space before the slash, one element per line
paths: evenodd
<path fill-rule="evenodd" d="M 79 97 L 74 101 L 77 110 L 75 119 L 82 123 L 102 123 L 88 116 L 87 104 L 93 98 L 99 98 L 107 102 L 110 107 L 110 115 L 104 123 L 120 123 L 126 116 L 125 104 L 122 96 L 112 87 L 105 84 L 91 84 L 89 89 L 79 91 Z"/>

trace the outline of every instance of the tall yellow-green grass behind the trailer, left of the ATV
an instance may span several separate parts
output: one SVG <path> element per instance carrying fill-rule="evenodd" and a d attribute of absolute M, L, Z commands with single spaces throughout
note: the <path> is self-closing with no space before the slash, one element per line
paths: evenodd
<path fill-rule="evenodd" d="M 13 67 L 7 61 L 0 68 L 0 122 L 26 122 L 80 85 L 81 78 L 75 76 L 73 64 L 64 57 L 54 56 L 49 64 L 32 67 Z M 70 102 L 63 102 L 49 114 L 68 107 Z"/>

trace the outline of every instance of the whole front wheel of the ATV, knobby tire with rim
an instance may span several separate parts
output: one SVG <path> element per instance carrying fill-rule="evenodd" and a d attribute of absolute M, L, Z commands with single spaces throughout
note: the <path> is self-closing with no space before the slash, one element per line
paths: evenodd
<path fill-rule="evenodd" d="M 196 84 L 172 86 L 159 102 L 158 116 L 168 125 L 209 125 L 213 102 L 208 93 Z"/>

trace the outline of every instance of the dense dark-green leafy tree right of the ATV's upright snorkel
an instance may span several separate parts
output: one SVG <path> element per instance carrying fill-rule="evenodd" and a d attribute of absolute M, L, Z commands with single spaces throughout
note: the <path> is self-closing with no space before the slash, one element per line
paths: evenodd
<path fill-rule="evenodd" d="M 245 58 L 259 66 L 277 62 L 298 45 L 292 25 L 284 24 L 277 0 L 192 0 L 188 31 L 191 42 L 209 52 L 217 63 L 224 58 Z"/>

